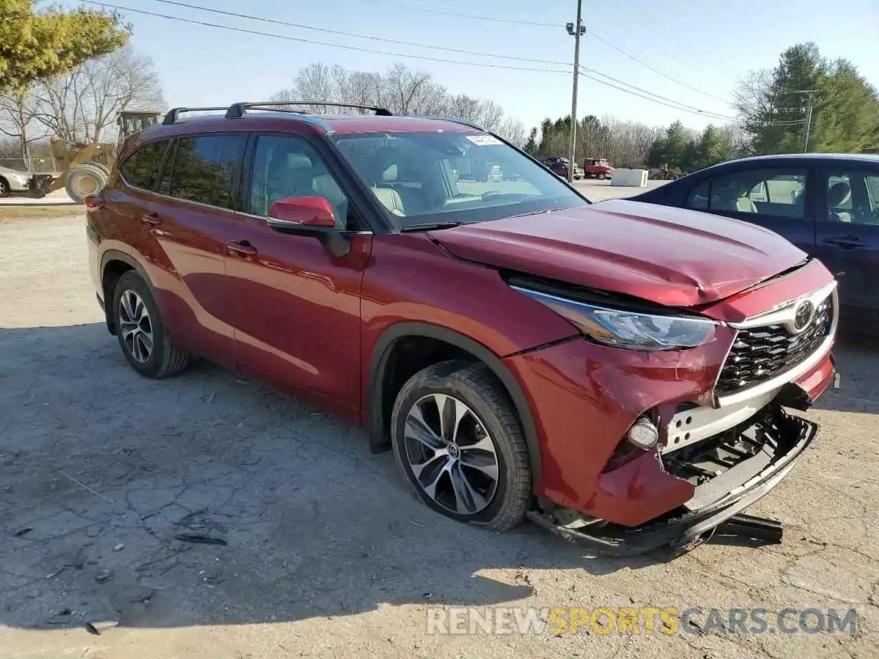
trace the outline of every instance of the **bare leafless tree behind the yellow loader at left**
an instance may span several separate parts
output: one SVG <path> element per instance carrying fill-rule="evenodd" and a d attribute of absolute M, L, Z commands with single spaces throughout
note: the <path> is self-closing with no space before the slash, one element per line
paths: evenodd
<path fill-rule="evenodd" d="M 131 47 L 39 83 L 35 94 L 35 119 L 68 146 L 106 139 L 119 112 L 165 106 L 152 60 Z"/>

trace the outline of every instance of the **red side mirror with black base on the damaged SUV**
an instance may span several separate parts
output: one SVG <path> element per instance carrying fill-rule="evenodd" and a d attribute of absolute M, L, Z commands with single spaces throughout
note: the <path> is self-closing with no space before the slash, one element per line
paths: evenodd
<path fill-rule="evenodd" d="M 265 223 L 280 234 L 317 238 L 333 258 L 345 257 L 351 243 L 336 228 L 336 215 L 327 199 L 316 195 L 279 199 L 269 208 Z"/>

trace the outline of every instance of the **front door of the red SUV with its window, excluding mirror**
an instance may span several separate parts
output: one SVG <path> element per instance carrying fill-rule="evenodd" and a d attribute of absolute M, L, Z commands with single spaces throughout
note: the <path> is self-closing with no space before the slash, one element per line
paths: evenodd
<path fill-rule="evenodd" d="M 244 373 L 308 392 L 340 410 L 360 409 L 360 286 L 372 234 L 306 138 L 251 137 L 244 213 L 227 240 L 230 323 Z M 328 199 L 351 251 L 331 257 L 314 237 L 265 222 L 272 202 Z"/>

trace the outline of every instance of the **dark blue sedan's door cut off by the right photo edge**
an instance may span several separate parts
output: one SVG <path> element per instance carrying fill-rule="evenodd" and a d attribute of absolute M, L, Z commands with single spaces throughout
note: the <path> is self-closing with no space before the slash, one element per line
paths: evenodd
<path fill-rule="evenodd" d="M 839 276 L 842 315 L 879 325 L 879 168 L 822 172 L 816 256 Z"/>

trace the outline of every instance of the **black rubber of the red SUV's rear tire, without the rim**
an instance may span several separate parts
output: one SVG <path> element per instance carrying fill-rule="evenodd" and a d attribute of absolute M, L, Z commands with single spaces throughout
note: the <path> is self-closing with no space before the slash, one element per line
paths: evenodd
<path fill-rule="evenodd" d="M 133 349 L 129 347 L 126 337 L 122 331 L 122 314 L 121 301 L 123 294 L 133 291 L 142 300 L 149 315 L 149 328 L 152 333 L 152 351 L 146 360 L 141 361 L 133 354 Z M 119 281 L 116 282 L 116 288 L 113 291 L 113 321 L 116 325 L 116 338 L 119 339 L 122 354 L 128 361 L 128 364 L 147 378 L 165 378 L 182 371 L 189 364 L 189 353 L 180 350 L 177 346 L 172 345 L 168 340 L 165 331 L 162 316 L 159 314 L 153 293 L 149 290 L 149 286 L 137 274 L 137 272 L 129 271 L 123 274 Z"/>

